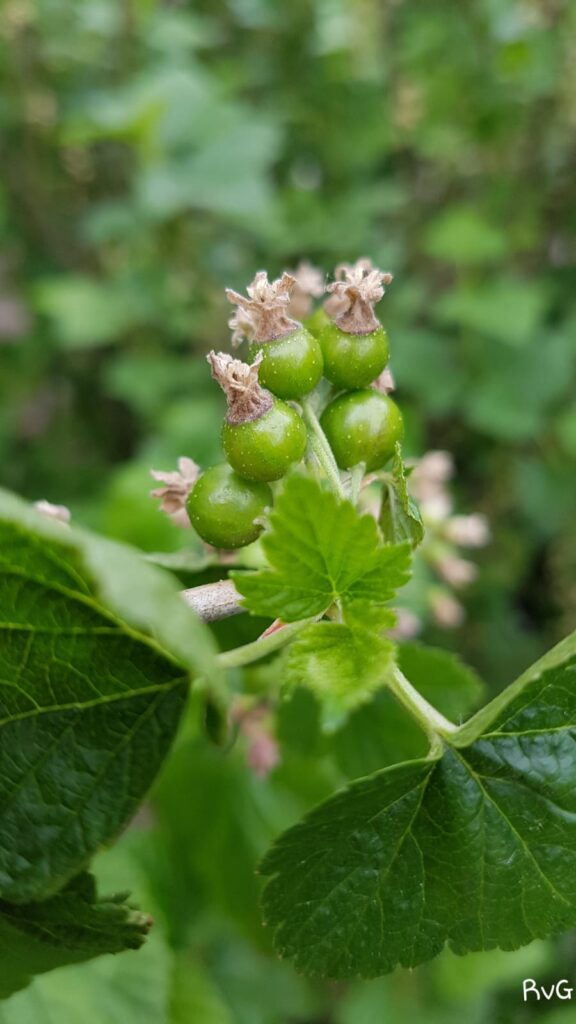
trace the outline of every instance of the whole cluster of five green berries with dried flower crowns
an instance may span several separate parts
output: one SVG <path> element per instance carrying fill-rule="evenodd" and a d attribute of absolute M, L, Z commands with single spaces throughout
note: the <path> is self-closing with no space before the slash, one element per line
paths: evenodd
<path fill-rule="evenodd" d="M 233 344 L 247 341 L 251 361 L 208 355 L 228 399 L 227 463 L 206 470 L 188 496 L 188 516 L 202 540 L 232 549 L 258 538 L 273 504 L 271 483 L 312 458 L 304 408 L 315 419 L 320 414 L 341 470 L 363 464 L 373 472 L 394 455 L 403 421 L 386 383 L 379 384 L 388 342 L 374 313 L 390 281 L 367 260 L 344 264 L 326 289 L 325 307 L 303 324 L 292 315 L 291 304 L 301 306 L 304 296 L 293 274 L 269 282 L 260 271 L 247 296 L 227 292 L 237 307 Z"/>

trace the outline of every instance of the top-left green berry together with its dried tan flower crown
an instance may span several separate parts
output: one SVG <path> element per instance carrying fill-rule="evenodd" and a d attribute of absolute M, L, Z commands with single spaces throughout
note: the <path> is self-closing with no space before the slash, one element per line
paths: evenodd
<path fill-rule="evenodd" d="M 295 279 L 284 273 L 269 282 L 260 271 L 248 296 L 227 291 L 238 312 L 231 321 L 235 334 L 250 338 L 250 357 L 261 355 L 259 382 L 279 398 L 301 398 L 322 377 L 322 350 L 317 339 L 288 315 Z"/>

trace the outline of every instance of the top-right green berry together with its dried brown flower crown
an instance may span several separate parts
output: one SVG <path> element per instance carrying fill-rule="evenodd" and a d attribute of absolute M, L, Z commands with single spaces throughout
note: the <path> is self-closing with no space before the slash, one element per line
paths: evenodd
<path fill-rule="evenodd" d="M 383 284 L 392 274 L 382 273 L 369 261 L 342 265 L 342 280 L 328 286 L 327 308 L 334 323 L 320 335 L 324 376 L 340 388 L 371 384 L 384 369 L 389 355 L 384 329 L 374 314 L 374 304 L 384 294 Z"/>

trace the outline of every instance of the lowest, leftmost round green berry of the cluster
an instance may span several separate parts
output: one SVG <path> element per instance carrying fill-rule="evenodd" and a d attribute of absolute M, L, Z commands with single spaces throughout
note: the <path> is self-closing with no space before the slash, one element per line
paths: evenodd
<path fill-rule="evenodd" d="M 261 534 L 259 519 L 272 505 L 268 483 L 243 480 L 221 463 L 207 469 L 188 499 L 188 514 L 196 532 L 215 548 L 243 548 Z"/>

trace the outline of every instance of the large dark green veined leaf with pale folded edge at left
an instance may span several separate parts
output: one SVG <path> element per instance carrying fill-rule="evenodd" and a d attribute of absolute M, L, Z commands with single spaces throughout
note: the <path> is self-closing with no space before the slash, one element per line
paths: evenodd
<path fill-rule="evenodd" d="M 212 655 L 160 569 L 0 493 L 0 898 L 53 895 L 130 819 Z"/>

